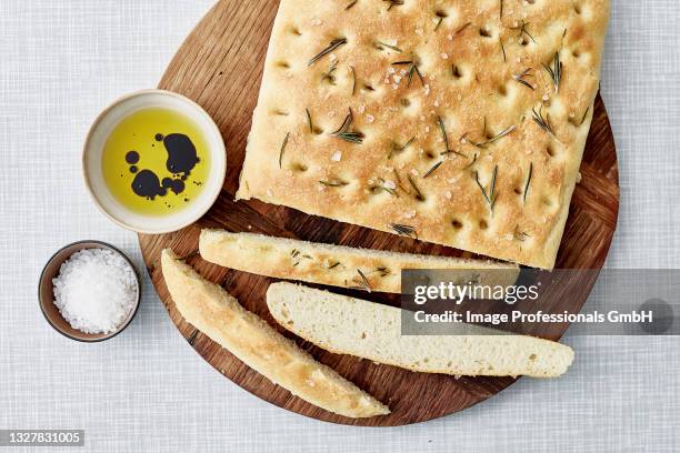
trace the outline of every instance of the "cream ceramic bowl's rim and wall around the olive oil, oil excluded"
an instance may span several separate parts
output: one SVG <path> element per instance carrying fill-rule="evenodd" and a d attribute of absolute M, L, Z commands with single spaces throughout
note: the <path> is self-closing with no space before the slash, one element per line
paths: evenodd
<path fill-rule="evenodd" d="M 104 182 L 101 168 L 107 139 L 116 125 L 130 114 L 149 108 L 176 110 L 193 121 L 208 143 L 210 172 L 204 188 L 187 208 L 168 215 L 142 215 L 122 205 Z M 227 152 L 220 130 L 212 118 L 196 102 L 163 90 L 144 90 L 128 94 L 109 105 L 90 128 L 82 153 L 86 184 L 97 207 L 113 222 L 128 230 L 160 234 L 180 230 L 200 219 L 214 203 L 227 172 Z"/>

